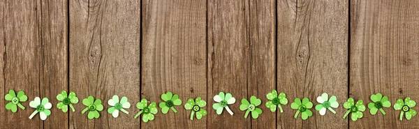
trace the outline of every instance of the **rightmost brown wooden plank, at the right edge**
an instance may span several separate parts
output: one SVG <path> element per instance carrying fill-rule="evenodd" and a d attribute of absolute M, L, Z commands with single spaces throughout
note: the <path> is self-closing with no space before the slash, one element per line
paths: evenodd
<path fill-rule="evenodd" d="M 388 96 L 392 106 L 408 96 L 418 103 L 418 7 L 419 1 L 351 0 L 350 94 L 365 106 L 375 93 Z M 350 128 L 419 128 L 418 116 L 399 121 L 400 111 L 384 110 L 372 116 L 367 109 Z"/>

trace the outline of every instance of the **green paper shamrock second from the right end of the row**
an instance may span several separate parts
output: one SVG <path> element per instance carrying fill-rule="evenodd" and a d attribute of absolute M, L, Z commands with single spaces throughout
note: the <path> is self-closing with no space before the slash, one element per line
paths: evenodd
<path fill-rule="evenodd" d="M 385 115 L 383 107 L 391 107 L 388 97 L 381 95 L 381 93 L 376 93 L 375 95 L 373 94 L 369 98 L 371 98 L 372 102 L 374 102 L 368 103 L 369 113 L 372 115 L 376 114 L 378 109 L 380 109 L 380 112 Z"/>

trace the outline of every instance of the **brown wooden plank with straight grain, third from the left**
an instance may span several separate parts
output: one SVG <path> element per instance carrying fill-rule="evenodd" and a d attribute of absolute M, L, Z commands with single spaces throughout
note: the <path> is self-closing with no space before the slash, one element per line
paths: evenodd
<path fill-rule="evenodd" d="M 206 8 L 205 0 L 142 1 L 142 98 L 159 105 L 161 94 L 171 91 L 182 105 L 175 106 L 176 114 L 159 108 L 155 120 L 141 128 L 207 127 L 207 116 L 191 121 L 191 110 L 184 109 L 196 97 L 212 109 L 206 92 Z"/>

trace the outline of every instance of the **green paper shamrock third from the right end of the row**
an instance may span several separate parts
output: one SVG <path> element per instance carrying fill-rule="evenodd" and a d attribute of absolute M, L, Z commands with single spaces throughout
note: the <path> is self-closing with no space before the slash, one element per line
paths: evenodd
<path fill-rule="evenodd" d="M 343 119 L 348 116 L 349 113 L 351 114 L 352 121 L 356 121 L 358 119 L 361 119 L 364 114 L 362 112 L 365 111 L 365 105 L 363 100 L 358 100 L 355 104 L 355 100 L 353 98 L 348 98 L 348 100 L 344 103 L 344 108 L 348 109 L 348 112 L 344 115 Z"/>

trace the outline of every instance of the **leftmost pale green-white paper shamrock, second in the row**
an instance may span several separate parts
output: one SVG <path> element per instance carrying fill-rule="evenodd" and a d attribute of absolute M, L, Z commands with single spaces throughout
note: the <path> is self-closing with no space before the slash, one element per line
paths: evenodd
<path fill-rule="evenodd" d="M 41 102 L 41 98 L 36 97 L 35 100 L 29 103 L 29 106 L 36 109 L 34 113 L 32 113 L 31 116 L 29 116 L 29 119 L 32 119 L 39 112 L 39 117 L 42 121 L 44 121 L 45 119 L 47 119 L 47 116 L 50 116 L 51 114 L 50 109 L 52 107 L 52 104 L 48 102 L 48 98 L 43 98 Z"/>

